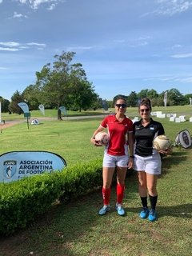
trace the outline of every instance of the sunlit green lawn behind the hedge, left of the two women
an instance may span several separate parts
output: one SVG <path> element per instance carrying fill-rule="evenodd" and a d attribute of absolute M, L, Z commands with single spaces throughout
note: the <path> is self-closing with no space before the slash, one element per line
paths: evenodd
<path fill-rule="evenodd" d="M 102 157 L 103 148 L 95 148 L 90 137 L 101 118 L 83 121 L 45 121 L 27 129 L 26 122 L 3 129 L 0 154 L 14 150 L 46 150 L 60 154 L 67 165 Z"/>

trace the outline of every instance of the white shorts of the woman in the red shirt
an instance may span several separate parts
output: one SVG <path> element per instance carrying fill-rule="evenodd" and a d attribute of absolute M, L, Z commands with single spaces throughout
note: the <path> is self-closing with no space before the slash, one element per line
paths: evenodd
<path fill-rule="evenodd" d="M 116 156 L 116 155 L 104 153 L 102 166 L 103 167 L 115 167 L 115 166 L 127 167 L 128 160 L 129 160 L 128 155 Z"/>

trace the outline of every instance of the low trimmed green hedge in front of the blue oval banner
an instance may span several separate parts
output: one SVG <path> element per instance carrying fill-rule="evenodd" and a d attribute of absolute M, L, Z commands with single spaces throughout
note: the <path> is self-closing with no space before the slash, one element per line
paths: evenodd
<path fill-rule="evenodd" d="M 61 172 L 0 184 L 0 234 L 12 234 L 43 214 L 56 199 L 77 198 L 102 186 L 102 159 L 78 163 Z"/>

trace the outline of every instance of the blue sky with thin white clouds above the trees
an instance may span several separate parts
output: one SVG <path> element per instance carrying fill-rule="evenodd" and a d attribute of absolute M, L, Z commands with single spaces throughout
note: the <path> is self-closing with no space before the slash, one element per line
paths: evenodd
<path fill-rule="evenodd" d="M 74 51 L 95 92 L 192 93 L 192 1 L 0 0 L 0 96 Z"/>

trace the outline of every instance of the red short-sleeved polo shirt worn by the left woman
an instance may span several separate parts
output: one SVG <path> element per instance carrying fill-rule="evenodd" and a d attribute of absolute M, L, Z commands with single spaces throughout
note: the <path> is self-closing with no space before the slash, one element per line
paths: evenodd
<path fill-rule="evenodd" d="M 125 118 L 122 122 L 116 119 L 116 115 L 108 115 L 103 119 L 101 126 L 108 129 L 110 142 L 106 146 L 106 153 L 112 155 L 128 154 L 127 133 L 133 132 L 133 122 L 130 118 Z"/>

